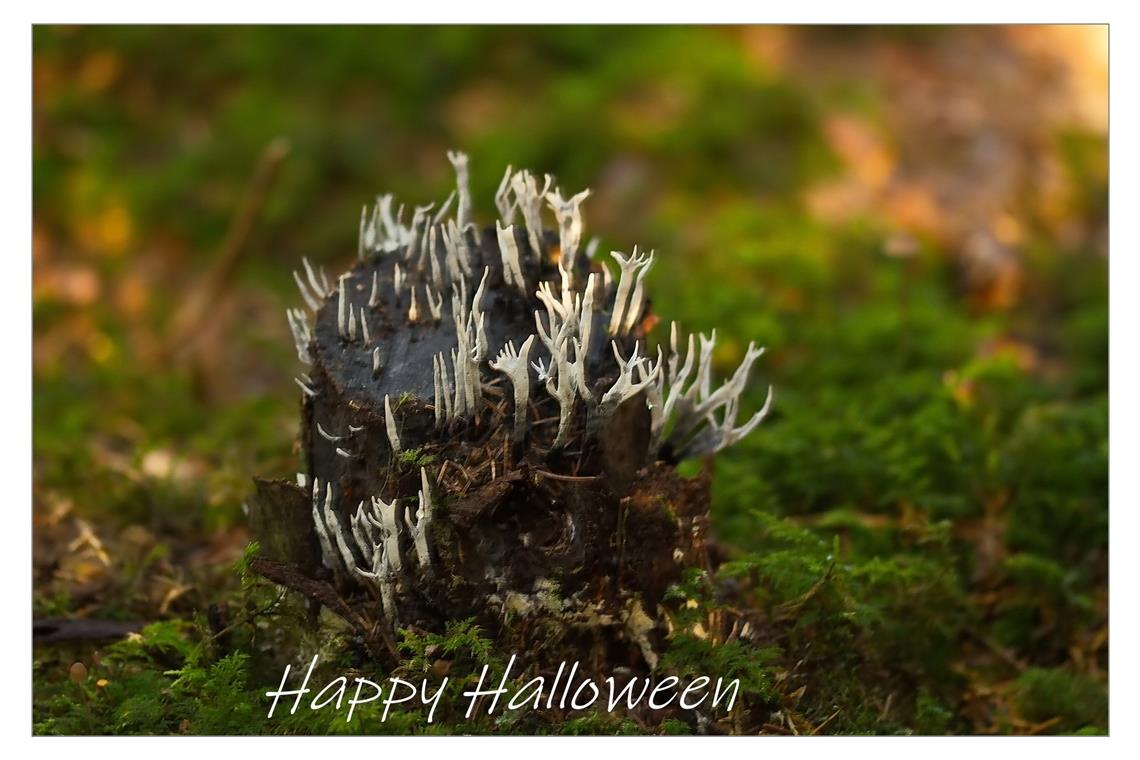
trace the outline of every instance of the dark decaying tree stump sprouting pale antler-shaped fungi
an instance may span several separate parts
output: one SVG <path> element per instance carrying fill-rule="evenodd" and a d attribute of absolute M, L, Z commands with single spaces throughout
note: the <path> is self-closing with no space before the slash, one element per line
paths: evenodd
<path fill-rule="evenodd" d="M 351 269 L 294 272 L 303 472 L 256 481 L 253 567 L 382 660 L 397 628 L 474 616 L 537 663 L 652 669 L 665 591 L 708 566 L 708 480 L 674 465 L 764 418 L 771 389 L 738 420 L 763 349 L 716 386 L 715 332 L 674 324 L 651 352 L 653 254 L 613 252 L 612 271 L 583 246 L 588 190 L 508 167 L 479 228 L 467 158 L 449 158 L 441 206 L 405 221 L 381 196 Z"/>

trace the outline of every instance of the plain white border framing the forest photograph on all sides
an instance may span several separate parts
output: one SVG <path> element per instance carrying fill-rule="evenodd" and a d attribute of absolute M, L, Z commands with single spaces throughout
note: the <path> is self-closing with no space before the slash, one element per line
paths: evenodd
<path fill-rule="evenodd" d="M 471 3 L 451 1 L 422 3 L 384 3 L 373 0 L 368 3 L 340 2 L 325 0 L 320 3 L 307 3 L 302 7 L 272 6 L 251 8 L 242 3 L 220 2 L 218 0 L 199 0 L 187 6 L 160 6 L 150 2 L 101 0 L 100 2 L 79 1 L 44 1 L 30 7 L 13 8 L 6 6 L 0 14 L 6 22 L 2 26 L 3 66 L 0 76 L 3 79 L 3 93 L 10 104 L 7 119 L 0 122 L 2 139 L 0 150 L 5 156 L 3 166 L 6 181 L 3 185 L 3 203 L 0 204 L 0 219 L 8 252 L 7 277 L 2 278 L 0 309 L 3 310 L 3 335 L 9 366 L 13 371 L 2 375 L 3 398 L 8 399 L 6 418 L 9 433 L 2 439 L 0 466 L 3 468 L 3 482 L 11 483 L 5 491 L 10 495 L 7 508 L 16 515 L 16 529 L 6 531 L 7 546 L 2 554 L 5 559 L 3 575 L 10 582 L 8 604 L 13 610 L 15 621 L 2 631 L 2 648 L 11 667 L 2 692 L 2 716 L 5 734 L 17 739 L 21 754 L 25 752 L 44 752 L 51 755 L 67 753 L 88 753 L 92 746 L 80 742 L 92 741 L 87 737 L 51 739 L 31 736 L 31 700 L 27 670 L 30 659 L 25 659 L 32 648 L 31 626 L 24 615 L 31 610 L 31 394 L 32 394 L 32 303 L 31 303 L 31 166 L 32 166 L 32 24 L 39 23 L 1112 23 L 1110 36 L 1110 113 L 1113 126 L 1122 139 L 1110 142 L 1110 171 L 1117 181 L 1110 193 L 1110 219 L 1123 219 L 1124 223 L 1113 224 L 1109 231 L 1109 250 L 1118 253 L 1116 260 L 1110 259 L 1112 277 L 1110 294 L 1110 386 L 1118 390 L 1110 402 L 1110 532 L 1109 532 L 1109 569 L 1110 577 L 1116 582 L 1110 585 L 1110 716 L 1109 728 L 1112 738 L 996 738 L 996 737 L 950 737 L 950 738 L 911 738 L 909 741 L 889 741 L 885 738 L 820 738 L 803 741 L 795 737 L 766 737 L 764 744 L 723 747 L 734 752 L 762 752 L 773 754 L 793 754 L 807 758 L 828 758 L 832 760 L 837 753 L 854 752 L 856 755 L 874 753 L 877 758 L 920 755 L 923 758 L 954 758 L 963 751 L 982 752 L 985 755 L 1033 751 L 1044 757 L 1066 757 L 1073 753 L 1104 752 L 1123 754 L 1123 750 L 1133 744 L 1137 738 L 1137 660 L 1140 654 L 1132 649 L 1137 639 L 1137 594 L 1132 581 L 1137 577 L 1135 557 L 1138 550 L 1131 546 L 1131 539 L 1138 536 L 1137 524 L 1140 522 L 1140 488 L 1137 482 L 1137 463 L 1140 460 L 1140 448 L 1137 447 L 1134 430 L 1140 424 L 1138 406 L 1140 400 L 1132 389 L 1140 384 L 1138 359 L 1134 351 L 1135 337 L 1133 329 L 1140 329 L 1140 299 L 1132 288 L 1140 285 L 1137 269 L 1140 267 L 1140 245 L 1138 245 L 1135 226 L 1127 223 L 1135 215 L 1138 198 L 1131 195 L 1129 180 L 1137 169 L 1137 147 L 1133 134 L 1140 134 L 1135 128 L 1135 93 L 1140 91 L 1135 73 L 1140 72 L 1138 50 L 1140 35 L 1135 26 L 1127 23 L 1122 13 L 1124 3 L 1109 2 L 1034 2 L 999 7 L 994 2 L 976 0 L 959 1 L 945 8 L 936 8 L 931 13 L 913 2 L 815 2 L 787 3 L 777 7 L 744 5 L 725 0 L 702 0 L 699 5 L 685 3 L 676 8 L 653 7 L 652 16 L 646 6 L 619 7 L 613 2 L 597 0 L 579 0 L 572 5 L 555 6 L 544 2 L 500 2 L 494 6 L 474 7 Z M 1078 17 L 1078 18 L 1074 18 Z M 968 21 L 966 21 L 968 19 Z M 1016 104 L 1011 104 L 1016 107 Z M 26 172 L 26 173 L 25 173 Z M 1110 254 L 1112 256 L 1112 254 Z M 1113 340 L 1116 338 L 1116 340 Z M 1113 456 L 1115 455 L 1115 456 Z M 1117 466 L 1112 467 L 1112 463 Z M 26 742 L 33 742 L 27 746 Z M 111 751 L 115 755 L 153 758 L 155 752 L 172 753 L 173 757 L 197 757 L 211 751 L 211 746 L 229 741 L 243 743 L 274 742 L 272 751 L 283 757 L 306 758 L 311 760 L 314 752 L 323 752 L 327 747 L 317 747 L 315 742 L 340 742 L 342 752 L 391 752 L 407 751 L 434 752 L 462 751 L 472 757 L 502 757 L 504 753 L 529 754 L 530 752 L 553 753 L 565 757 L 579 753 L 605 752 L 644 752 L 649 751 L 665 757 L 686 757 L 694 751 L 705 751 L 694 742 L 700 739 L 677 738 L 676 741 L 641 738 L 536 738 L 536 737 L 488 737 L 449 741 L 449 746 L 433 744 L 425 750 L 420 737 L 391 737 L 378 739 L 377 746 L 368 747 L 359 743 L 377 739 L 352 738 L 311 738 L 290 742 L 288 738 L 243 737 L 243 738 L 199 738 L 192 742 L 180 742 L 170 738 L 132 738 L 132 739 L 95 739 L 103 743 L 95 751 Z M 747 738 L 722 739 L 742 742 Z M 463 742 L 462 749 L 456 746 Z M 645 743 L 653 742 L 650 746 Z M 795 742 L 795 744 L 791 744 Z M 113 744 L 109 746 L 107 743 Z M 413 743 L 418 743 L 414 744 Z M 637 746 L 634 745 L 637 744 Z M 1032 746 L 1031 746 L 1032 743 Z M 9 745 L 10 746 L 10 745 Z M 13 747 L 15 749 L 15 747 Z M 249 751 L 252 747 L 234 747 L 237 751 Z M 1133 750 L 1134 752 L 1134 750 Z M 1134 757 L 1134 755 L 1132 755 Z"/>

